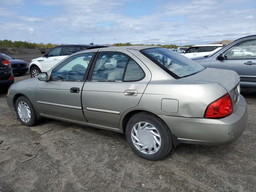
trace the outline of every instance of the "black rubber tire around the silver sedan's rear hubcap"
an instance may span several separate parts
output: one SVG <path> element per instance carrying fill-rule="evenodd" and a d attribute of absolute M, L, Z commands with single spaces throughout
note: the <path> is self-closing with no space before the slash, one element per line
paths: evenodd
<path fill-rule="evenodd" d="M 132 128 L 138 122 L 148 122 L 155 126 L 155 128 L 160 133 L 162 138 L 162 144 L 160 149 L 154 154 L 144 154 L 136 148 L 132 142 Z M 168 126 L 156 115 L 150 114 L 148 112 L 140 112 L 132 116 L 126 125 L 126 140 L 132 150 L 141 158 L 147 160 L 161 160 L 163 159 L 173 148 L 172 134 Z"/>

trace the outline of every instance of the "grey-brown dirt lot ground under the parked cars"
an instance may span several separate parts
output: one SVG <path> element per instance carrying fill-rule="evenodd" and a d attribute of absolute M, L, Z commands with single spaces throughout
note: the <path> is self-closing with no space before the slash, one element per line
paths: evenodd
<path fill-rule="evenodd" d="M 0 94 L 0 192 L 256 191 L 256 91 L 242 94 L 249 120 L 236 142 L 181 144 L 157 162 L 136 156 L 124 134 L 50 119 L 23 126 Z"/>

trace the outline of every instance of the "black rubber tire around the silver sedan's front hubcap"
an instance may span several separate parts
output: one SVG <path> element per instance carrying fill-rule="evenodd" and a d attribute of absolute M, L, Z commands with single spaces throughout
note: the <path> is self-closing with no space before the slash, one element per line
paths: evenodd
<path fill-rule="evenodd" d="M 30 121 L 29 121 L 29 122 L 24 122 L 24 121 L 20 118 L 20 116 L 19 116 L 19 114 L 18 114 L 18 104 L 19 104 L 21 101 L 25 102 L 25 103 L 28 105 L 29 109 L 30 109 L 31 118 L 30 118 Z M 28 100 L 28 98 L 27 98 L 26 96 L 20 96 L 20 97 L 16 100 L 16 102 L 15 102 L 15 111 L 16 111 L 16 114 L 17 114 L 17 116 L 18 116 L 18 119 L 19 119 L 20 122 L 21 122 L 23 125 L 25 125 L 25 126 L 28 126 L 28 127 L 34 126 L 34 125 L 36 125 L 36 123 L 38 122 L 38 119 L 36 118 L 36 111 L 35 111 L 35 109 L 34 109 L 32 103 L 30 102 L 30 100 Z"/>

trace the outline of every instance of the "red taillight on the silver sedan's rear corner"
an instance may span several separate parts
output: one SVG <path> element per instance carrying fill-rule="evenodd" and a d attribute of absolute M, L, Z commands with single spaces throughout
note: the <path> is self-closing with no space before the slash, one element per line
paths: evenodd
<path fill-rule="evenodd" d="M 204 117 L 206 118 L 222 118 L 232 114 L 232 100 L 227 93 L 221 98 L 212 102 L 205 110 Z"/>

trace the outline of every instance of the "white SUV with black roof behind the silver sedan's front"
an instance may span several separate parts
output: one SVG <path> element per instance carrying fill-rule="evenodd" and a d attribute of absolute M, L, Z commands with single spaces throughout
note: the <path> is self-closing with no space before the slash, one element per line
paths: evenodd
<path fill-rule="evenodd" d="M 29 65 L 29 72 L 32 78 L 37 77 L 41 72 L 47 72 L 67 56 L 88 49 L 108 47 L 103 45 L 93 44 L 78 44 L 78 45 L 60 45 L 52 48 L 48 53 L 44 54 L 43 57 L 39 57 L 31 60 Z"/>

